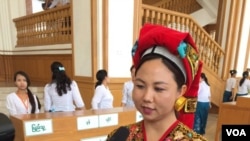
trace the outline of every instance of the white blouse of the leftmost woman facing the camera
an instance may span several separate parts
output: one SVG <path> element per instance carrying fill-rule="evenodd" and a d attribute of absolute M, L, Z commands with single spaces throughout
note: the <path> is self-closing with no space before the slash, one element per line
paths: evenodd
<path fill-rule="evenodd" d="M 36 96 L 33 94 L 36 104 L 36 110 L 35 113 L 39 113 L 38 109 L 38 103 Z M 23 103 L 23 101 L 18 97 L 18 95 L 13 92 L 7 95 L 6 97 L 6 107 L 9 111 L 10 115 L 17 115 L 17 114 L 30 114 L 31 113 L 31 104 L 29 100 L 25 101 L 26 103 Z M 27 107 L 25 106 L 28 105 Z"/>

